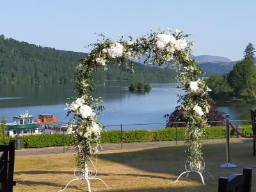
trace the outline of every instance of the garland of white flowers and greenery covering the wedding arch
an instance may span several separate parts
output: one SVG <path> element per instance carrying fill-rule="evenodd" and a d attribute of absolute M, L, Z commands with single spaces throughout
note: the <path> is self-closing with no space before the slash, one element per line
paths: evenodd
<path fill-rule="evenodd" d="M 97 67 L 107 70 L 109 63 L 115 61 L 127 67 L 132 61 L 143 56 L 145 61 L 154 65 L 175 65 L 178 69 L 177 80 L 182 84 L 180 88 L 184 92 L 179 95 L 179 101 L 188 118 L 186 126 L 186 144 L 188 149 L 187 166 L 189 170 L 202 172 L 204 170 L 204 159 L 201 150 L 200 138 L 207 126 L 205 115 L 209 111 L 209 88 L 203 81 L 203 73 L 198 63 L 193 60 L 193 42 L 187 40 L 189 35 L 182 31 L 166 29 L 164 31 L 150 31 L 135 41 L 132 37 L 120 36 L 113 41 L 100 35 L 102 40 L 92 44 L 92 51 L 86 55 L 77 66 L 76 92 L 79 97 L 68 106 L 68 111 L 74 113 L 77 124 L 74 132 L 75 145 L 77 149 L 77 166 L 83 168 L 88 158 L 97 154 L 100 147 L 100 131 L 102 124 L 97 120 L 102 108 L 99 106 L 100 98 L 94 98 L 92 72 Z M 131 65 L 129 65 L 131 63 Z"/>

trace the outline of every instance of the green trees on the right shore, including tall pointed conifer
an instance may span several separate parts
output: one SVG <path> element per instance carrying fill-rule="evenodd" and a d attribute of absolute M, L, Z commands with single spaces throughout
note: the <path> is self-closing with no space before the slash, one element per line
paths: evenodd
<path fill-rule="evenodd" d="M 230 99 L 237 102 L 256 102 L 255 48 L 250 43 L 244 50 L 244 59 L 238 61 L 233 69 L 223 75 L 212 75 L 206 80 L 211 88 L 213 99 Z"/>

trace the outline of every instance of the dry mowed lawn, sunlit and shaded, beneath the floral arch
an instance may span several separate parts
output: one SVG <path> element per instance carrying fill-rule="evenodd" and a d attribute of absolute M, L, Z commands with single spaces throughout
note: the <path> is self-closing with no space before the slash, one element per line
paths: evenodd
<path fill-rule="evenodd" d="M 218 178 L 242 173 L 244 167 L 251 167 L 252 191 L 256 191 L 256 157 L 252 156 L 252 140 L 236 141 L 230 143 L 230 156 L 231 163 L 237 164 L 238 168 L 218 168 L 225 163 L 225 143 L 219 143 L 203 146 L 205 170 Z M 102 151 L 96 165 L 98 177 L 110 188 L 92 180 L 92 191 L 218 191 L 218 181 L 212 180 L 207 174 L 204 174 L 206 185 L 201 184 L 196 174 L 189 179 L 172 182 L 184 172 L 185 149 L 185 146 L 179 146 Z M 14 178 L 17 186 L 14 191 L 59 191 L 74 177 L 74 153 L 15 158 Z M 79 182 L 73 182 L 66 191 L 87 191 L 87 186 L 85 182 L 82 186 Z"/>

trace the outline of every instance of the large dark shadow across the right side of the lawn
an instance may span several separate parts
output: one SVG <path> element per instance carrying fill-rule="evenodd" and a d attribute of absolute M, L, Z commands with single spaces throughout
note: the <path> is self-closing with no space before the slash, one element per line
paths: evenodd
<path fill-rule="evenodd" d="M 138 170 L 151 173 L 167 173 L 170 177 L 177 177 L 184 172 L 184 163 L 186 161 L 186 146 L 179 147 L 159 147 L 143 149 L 134 152 L 116 152 L 111 154 L 99 154 L 100 159 L 124 164 Z M 256 170 L 256 157 L 252 156 L 252 140 L 243 140 L 241 143 L 230 143 L 231 163 L 238 167 L 232 170 L 223 170 L 218 168 L 221 164 L 226 163 L 225 143 L 203 145 L 205 170 L 209 171 L 218 179 L 218 177 L 228 177 L 233 173 L 243 173 L 244 167 L 250 167 Z M 108 174 L 107 174 L 108 175 Z M 109 174 L 109 175 L 115 175 Z M 119 175 L 126 175 L 119 174 Z M 129 175 L 129 174 L 128 174 Z M 138 176 L 131 174 L 131 176 Z M 141 175 L 142 176 L 142 175 Z M 139 176 L 140 177 L 140 176 Z M 145 173 L 142 177 L 157 177 Z M 168 179 L 168 178 L 164 178 Z M 170 178 L 169 178 L 170 179 Z M 175 178 L 173 178 L 175 179 Z M 189 179 L 201 182 L 197 175 L 189 176 Z M 212 180 L 209 175 L 204 175 L 205 186 L 194 188 L 192 191 L 217 191 L 218 181 Z M 184 179 L 182 179 L 184 180 Z M 118 190 L 117 190 L 118 191 Z M 122 190 L 120 190 L 122 191 Z M 123 191 L 191 191 L 191 188 L 182 186 L 181 188 L 157 188 L 157 189 L 134 189 Z M 256 191 L 256 172 L 253 172 L 252 191 Z"/>

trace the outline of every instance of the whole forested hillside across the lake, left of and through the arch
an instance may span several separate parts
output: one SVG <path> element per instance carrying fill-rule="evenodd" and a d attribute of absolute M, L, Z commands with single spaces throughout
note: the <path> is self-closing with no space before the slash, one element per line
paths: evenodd
<path fill-rule="evenodd" d="M 0 35 L 0 83 L 65 83 L 76 76 L 76 65 L 85 53 L 60 51 L 54 48 L 19 42 Z M 131 80 L 160 82 L 174 79 L 175 72 L 134 63 L 135 73 L 126 67 L 110 65 L 109 70 L 97 70 L 97 81 Z"/>

